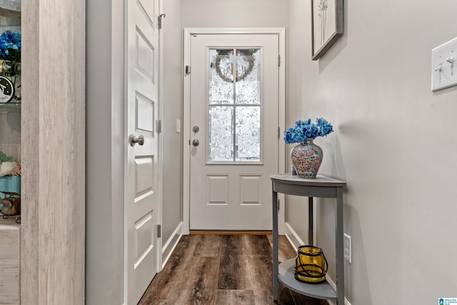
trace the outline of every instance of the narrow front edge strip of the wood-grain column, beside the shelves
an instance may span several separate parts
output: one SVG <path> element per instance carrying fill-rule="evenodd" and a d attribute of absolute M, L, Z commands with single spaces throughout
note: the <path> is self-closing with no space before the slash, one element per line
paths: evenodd
<path fill-rule="evenodd" d="M 39 1 L 22 0 L 21 9 L 21 304 L 33 304 L 39 267 Z"/>

